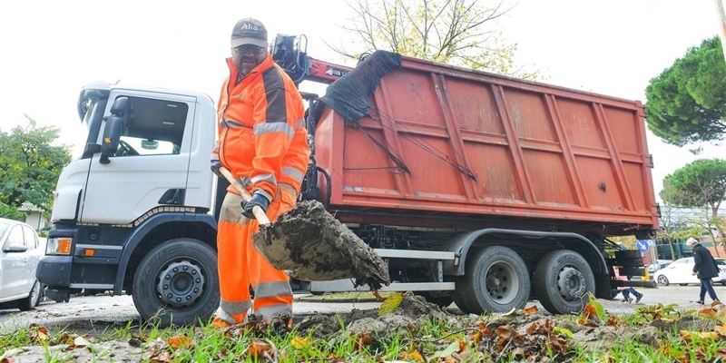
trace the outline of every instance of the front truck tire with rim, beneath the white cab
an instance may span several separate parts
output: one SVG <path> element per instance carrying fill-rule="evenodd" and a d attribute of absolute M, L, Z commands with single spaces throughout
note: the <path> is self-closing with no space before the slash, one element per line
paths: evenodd
<path fill-rule="evenodd" d="M 201 240 L 163 242 L 136 269 L 132 298 L 142 319 L 164 327 L 206 322 L 220 304 L 216 251 Z"/>

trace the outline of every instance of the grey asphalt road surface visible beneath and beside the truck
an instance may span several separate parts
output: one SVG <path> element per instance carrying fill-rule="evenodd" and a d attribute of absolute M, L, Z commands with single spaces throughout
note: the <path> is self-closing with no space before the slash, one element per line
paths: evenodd
<path fill-rule="evenodd" d="M 726 287 L 714 287 L 721 299 L 726 299 Z M 599 300 L 605 309 L 613 314 L 627 314 L 633 309 L 652 305 L 658 302 L 663 304 L 675 303 L 684 309 L 697 308 L 698 286 L 666 286 L 658 289 L 638 289 L 643 293 L 640 304 L 626 304 L 621 299 Z M 293 304 L 293 315 L 300 319 L 306 315 L 321 313 L 342 313 L 351 309 L 378 309 L 379 303 L 375 301 L 357 302 L 331 302 L 329 299 L 321 300 L 325 295 L 313 297 L 307 294 L 296 294 Z M 617 298 L 621 298 L 618 295 Z M 706 298 L 710 303 L 711 299 Z M 530 304 L 539 306 L 536 301 Z M 529 304 L 527 306 L 530 306 Z M 544 309 L 539 306 L 540 309 Z M 452 313 L 461 313 L 456 305 L 448 308 Z M 73 297 L 69 302 L 43 302 L 32 311 L 21 312 L 17 309 L 0 310 L 0 333 L 26 328 L 30 324 L 41 326 L 54 326 L 63 329 L 94 330 L 109 327 L 123 327 L 130 321 L 136 323 L 140 319 L 133 307 L 131 296 L 88 296 Z"/>

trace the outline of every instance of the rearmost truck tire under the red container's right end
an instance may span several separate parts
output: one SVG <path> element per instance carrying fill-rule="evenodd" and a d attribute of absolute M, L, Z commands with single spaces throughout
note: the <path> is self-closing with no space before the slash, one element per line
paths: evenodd
<path fill-rule="evenodd" d="M 554 250 L 537 262 L 535 293 L 544 309 L 553 314 L 583 310 L 594 293 L 595 278 L 590 265 L 574 250 Z"/>

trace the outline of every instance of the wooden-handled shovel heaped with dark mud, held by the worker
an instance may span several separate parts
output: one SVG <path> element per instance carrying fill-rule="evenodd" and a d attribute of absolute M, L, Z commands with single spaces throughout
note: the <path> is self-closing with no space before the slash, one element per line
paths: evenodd
<path fill-rule="evenodd" d="M 244 201 L 252 196 L 224 167 L 220 172 Z M 252 208 L 260 231 L 252 243 L 278 270 L 299 280 L 355 279 L 370 289 L 389 285 L 388 265 L 363 240 L 336 220 L 319 201 L 300 201 L 271 222 L 259 206 Z"/>

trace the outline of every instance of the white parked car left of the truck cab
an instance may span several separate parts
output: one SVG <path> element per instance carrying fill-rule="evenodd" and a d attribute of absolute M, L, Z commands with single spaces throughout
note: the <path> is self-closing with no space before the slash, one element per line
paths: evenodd
<path fill-rule="evenodd" d="M 44 244 L 31 226 L 0 218 L 0 309 L 35 309 L 44 288 L 35 270 L 44 254 Z"/>

